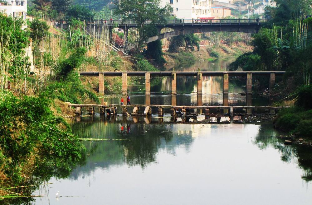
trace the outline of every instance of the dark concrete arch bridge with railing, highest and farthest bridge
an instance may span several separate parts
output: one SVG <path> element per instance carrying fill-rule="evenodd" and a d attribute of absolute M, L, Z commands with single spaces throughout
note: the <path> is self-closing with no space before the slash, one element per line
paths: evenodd
<path fill-rule="evenodd" d="M 184 34 L 204 33 L 213 31 L 228 31 L 228 32 L 241 32 L 241 33 L 258 33 L 261 26 L 263 26 L 268 19 L 181 19 L 181 20 L 168 20 L 166 23 L 155 24 L 159 35 L 149 37 L 144 43 L 150 43 L 155 40 L 169 38 Z M 145 24 L 151 24 L 151 21 L 146 21 Z M 60 25 L 61 28 L 67 29 L 67 24 Z M 86 33 L 89 35 L 100 35 L 103 29 L 111 30 L 115 27 L 124 30 L 125 42 L 124 47 L 120 50 L 126 51 L 133 49 L 136 44 L 128 45 L 127 37 L 128 30 L 130 28 L 136 28 L 137 22 L 134 20 L 119 21 L 119 20 L 107 20 L 107 21 L 94 21 L 85 25 Z M 174 31 L 161 34 L 160 31 L 163 28 L 172 28 Z"/>

